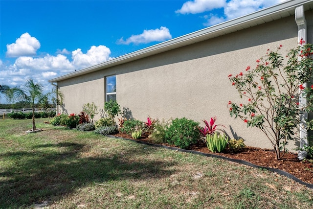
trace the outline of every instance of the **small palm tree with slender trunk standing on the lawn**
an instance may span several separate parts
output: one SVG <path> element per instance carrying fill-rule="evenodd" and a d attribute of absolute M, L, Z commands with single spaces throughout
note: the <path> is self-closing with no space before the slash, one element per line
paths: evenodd
<path fill-rule="evenodd" d="M 33 128 L 37 130 L 35 124 L 35 102 L 39 102 L 43 97 L 43 86 L 40 83 L 34 83 L 33 79 L 26 80 L 26 83 L 21 87 L 14 87 L 5 91 L 6 99 L 11 103 L 15 100 L 25 101 L 30 103 L 33 111 Z"/>

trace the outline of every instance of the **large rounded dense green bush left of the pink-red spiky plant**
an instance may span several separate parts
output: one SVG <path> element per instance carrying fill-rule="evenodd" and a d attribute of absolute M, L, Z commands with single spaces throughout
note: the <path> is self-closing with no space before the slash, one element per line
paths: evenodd
<path fill-rule="evenodd" d="M 201 138 L 199 122 L 189 120 L 185 117 L 176 118 L 165 131 L 165 140 L 169 144 L 174 144 L 182 149 L 189 148 Z"/>

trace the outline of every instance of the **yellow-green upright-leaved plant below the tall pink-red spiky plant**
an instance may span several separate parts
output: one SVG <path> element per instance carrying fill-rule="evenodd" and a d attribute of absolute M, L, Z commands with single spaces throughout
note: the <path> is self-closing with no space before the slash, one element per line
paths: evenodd
<path fill-rule="evenodd" d="M 211 152 L 222 152 L 228 142 L 228 137 L 224 134 L 214 133 L 206 135 L 206 146 Z"/>

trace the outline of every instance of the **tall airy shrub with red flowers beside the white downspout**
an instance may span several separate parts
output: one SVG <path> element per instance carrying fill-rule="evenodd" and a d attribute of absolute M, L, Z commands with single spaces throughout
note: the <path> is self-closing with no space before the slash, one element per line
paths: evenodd
<path fill-rule="evenodd" d="M 268 49 L 262 58 L 256 60 L 256 68 L 246 68 L 246 73 L 229 76 L 240 98 L 237 105 L 228 102 L 230 116 L 242 119 L 247 127 L 259 128 L 270 140 L 281 159 L 288 140 L 295 135 L 299 114 L 313 111 L 313 45 L 302 43 L 288 52 L 287 62 L 278 51 Z M 299 95 L 307 98 L 307 106 L 299 106 Z M 313 124 L 313 123 L 312 123 Z M 313 126 L 312 126 L 313 127 Z M 283 153 L 281 153 L 281 151 Z"/>

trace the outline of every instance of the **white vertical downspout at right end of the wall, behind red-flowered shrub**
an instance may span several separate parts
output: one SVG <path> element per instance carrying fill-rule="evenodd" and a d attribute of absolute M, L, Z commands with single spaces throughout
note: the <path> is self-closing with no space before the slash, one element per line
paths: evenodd
<path fill-rule="evenodd" d="M 307 42 L 307 22 L 305 20 L 304 16 L 304 7 L 303 5 L 298 6 L 295 8 L 295 22 L 298 25 L 298 43 L 300 45 L 300 40 L 302 39 Z M 299 57 L 299 60 L 302 58 Z M 302 84 L 303 87 L 307 87 L 307 83 Z M 308 130 L 307 130 L 307 124 L 306 121 L 308 120 L 308 112 L 303 109 L 304 107 L 307 106 L 307 98 L 305 96 L 302 96 L 302 91 L 299 90 L 299 106 L 302 108 L 300 109 L 300 148 L 303 148 L 304 145 L 308 146 Z M 298 159 L 303 160 L 304 158 L 307 157 L 307 152 L 306 151 L 299 151 L 298 153 Z"/>

